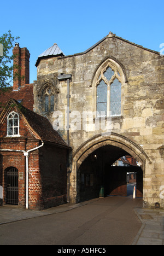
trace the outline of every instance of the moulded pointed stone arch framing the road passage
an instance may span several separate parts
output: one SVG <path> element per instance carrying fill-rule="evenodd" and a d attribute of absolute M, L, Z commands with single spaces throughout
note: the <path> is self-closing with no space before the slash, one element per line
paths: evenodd
<path fill-rule="evenodd" d="M 72 202 L 77 202 L 78 198 L 78 170 L 80 165 L 84 160 L 95 152 L 95 150 L 102 148 L 104 146 L 115 146 L 125 150 L 128 154 L 133 156 L 138 162 L 139 166 L 142 168 L 143 175 L 145 173 L 145 166 L 151 164 L 151 159 L 144 152 L 143 148 L 126 138 L 125 136 L 119 135 L 117 133 L 112 133 L 110 136 L 97 135 L 86 141 L 73 155 L 73 166 L 71 174 L 71 190 L 70 196 Z"/>

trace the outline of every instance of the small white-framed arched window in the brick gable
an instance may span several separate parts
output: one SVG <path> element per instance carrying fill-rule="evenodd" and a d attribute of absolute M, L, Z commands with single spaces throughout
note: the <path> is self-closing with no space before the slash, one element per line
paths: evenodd
<path fill-rule="evenodd" d="M 14 111 L 8 115 L 7 136 L 19 136 L 19 114 Z"/>

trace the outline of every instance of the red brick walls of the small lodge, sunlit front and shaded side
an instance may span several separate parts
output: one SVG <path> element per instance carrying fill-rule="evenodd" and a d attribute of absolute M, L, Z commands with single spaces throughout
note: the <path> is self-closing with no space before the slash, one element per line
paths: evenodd
<path fill-rule="evenodd" d="M 13 110 L 16 109 L 14 108 Z M 0 149 L 27 150 L 40 145 L 27 129 L 20 116 L 20 137 L 7 136 L 7 118 L 0 129 Z M 67 202 L 67 149 L 45 144 L 43 148 L 30 153 L 29 168 L 29 208 L 42 210 Z M 26 157 L 23 152 L 0 152 L 0 185 L 3 187 L 3 204 L 7 202 L 8 167 L 17 168 L 19 178 L 19 206 L 26 206 Z M 2 200 L 1 200 L 2 201 Z M 0 202 L 1 203 L 1 202 Z"/>

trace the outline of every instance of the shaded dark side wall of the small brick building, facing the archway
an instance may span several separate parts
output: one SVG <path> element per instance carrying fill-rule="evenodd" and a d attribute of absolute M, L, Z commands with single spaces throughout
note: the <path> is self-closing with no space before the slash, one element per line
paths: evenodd
<path fill-rule="evenodd" d="M 39 167 L 42 176 L 43 207 L 67 202 L 67 150 L 45 145 L 40 148 Z"/>

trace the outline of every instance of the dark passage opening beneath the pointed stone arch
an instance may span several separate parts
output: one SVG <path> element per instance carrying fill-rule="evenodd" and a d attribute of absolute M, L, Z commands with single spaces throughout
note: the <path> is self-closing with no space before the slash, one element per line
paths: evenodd
<path fill-rule="evenodd" d="M 136 196 L 142 197 L 143 171 L 138 162 L 122 148 L 112 145 L 100 147 L 88 155 L 79 167 L 80 201 L 106 196 L 130 196 L 127 184 L 132 177 L 136 177 Z"/>

